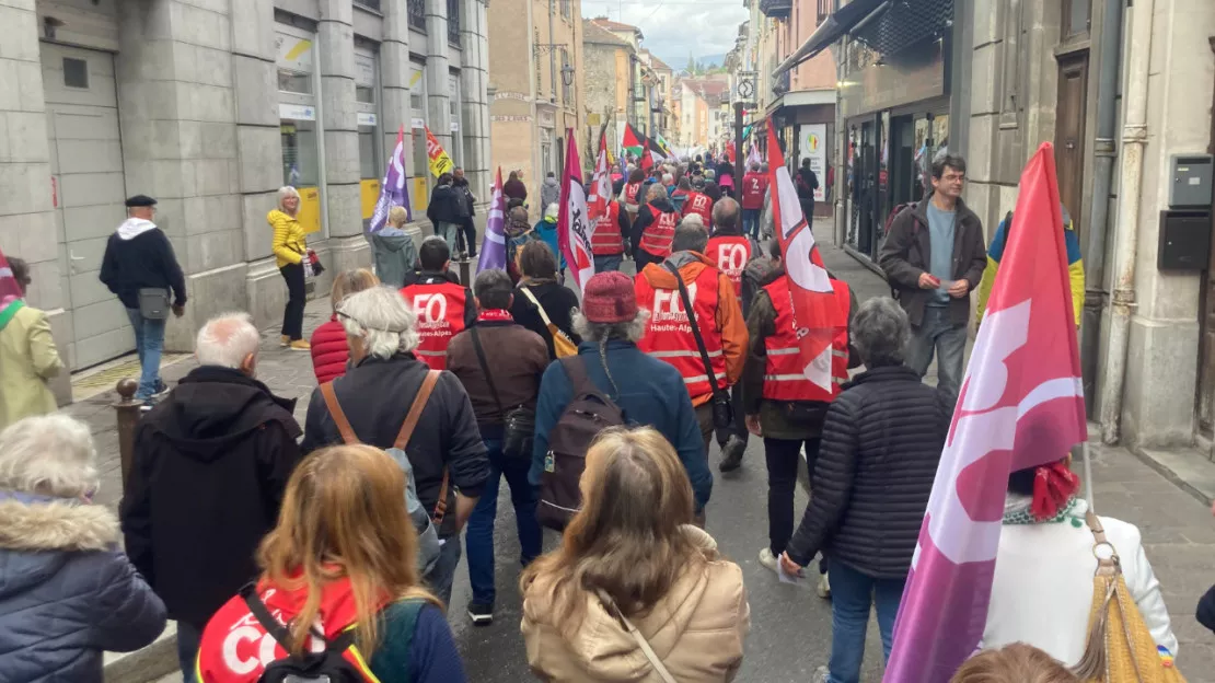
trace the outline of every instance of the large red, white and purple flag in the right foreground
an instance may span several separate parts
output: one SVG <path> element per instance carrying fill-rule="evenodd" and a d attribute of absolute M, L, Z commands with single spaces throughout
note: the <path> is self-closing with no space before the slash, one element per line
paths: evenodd
<path fill-rule="evenodd" d="M 1050 143 L 1025 165 L 1015 214 L 911 558 L 886 683 L 946 683 L 979 648 L 1008 474 L 1056 462 L 1087 438 Z"/>

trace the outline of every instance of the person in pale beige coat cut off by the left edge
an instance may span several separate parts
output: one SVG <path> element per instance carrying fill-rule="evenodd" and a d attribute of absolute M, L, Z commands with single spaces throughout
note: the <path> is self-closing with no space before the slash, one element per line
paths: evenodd
<path fill-rule="evenodd" d="M 10 258 L 9 269 L 22 298 L 0 301 L 0 429 L 23 417 L 55 412 L 55 395 L 46 382 L 63 369 L 46 314 L 23 299 L 32 282 L 29 266 Z"/>

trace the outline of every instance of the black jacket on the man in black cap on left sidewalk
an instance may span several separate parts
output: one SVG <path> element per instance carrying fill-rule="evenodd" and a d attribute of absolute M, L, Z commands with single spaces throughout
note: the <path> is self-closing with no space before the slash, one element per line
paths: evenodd
<path fill-rule="evenodd" d="M 175 305 L 186 303 L 186 277 L 159 227 L 129 239 L 118 232 L 111 235 L 98 278 L 128 309 L 140 307 L 140 289 L 152 287 L 173 289 Z"/>

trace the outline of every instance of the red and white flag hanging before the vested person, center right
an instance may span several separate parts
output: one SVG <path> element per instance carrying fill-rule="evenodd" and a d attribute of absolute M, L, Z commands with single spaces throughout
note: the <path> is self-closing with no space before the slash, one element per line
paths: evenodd
<path fill-rule="evenodd" d="M 729 152 L 733 147 L 727 147 Z M 772 215 L 785 255 L 789 276 L 789 297 L 793 304 L 793 324 L 798 332 L 801 359 L 806 377 L 824 390 L 831 390 L 831 338 L 836 328 L 847 324 L 848 311 L 841 311 L 823 265 L 823 256 L 814 245 L 802 205 L 797 201 L 793 179 L 785 168 L 785 158 L 776 143 L 776 132 L 768 126 L 769 187 Z"/>

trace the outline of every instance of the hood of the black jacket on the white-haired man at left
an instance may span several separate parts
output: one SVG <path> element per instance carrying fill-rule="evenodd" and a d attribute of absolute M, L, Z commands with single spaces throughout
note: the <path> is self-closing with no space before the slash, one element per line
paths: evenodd
<path fill-rule="evenodd" d="M 299 438 L 294 410 L 295 399 L 279 399 L 239 371 L 203 366 L 183 377 L 142 422 L 179 452 L 210 462 L 267 422 L 278 422 L 292 439 Z"/>

